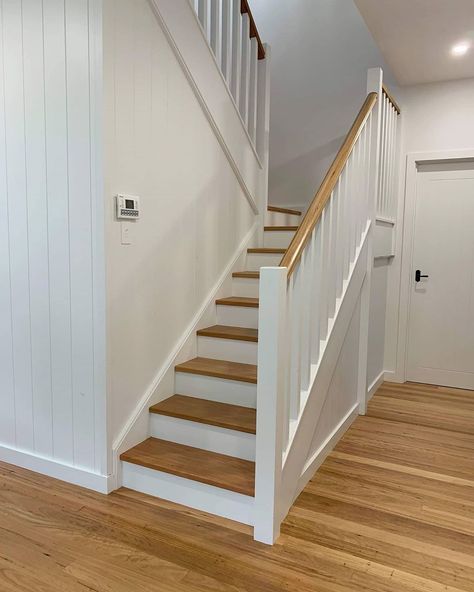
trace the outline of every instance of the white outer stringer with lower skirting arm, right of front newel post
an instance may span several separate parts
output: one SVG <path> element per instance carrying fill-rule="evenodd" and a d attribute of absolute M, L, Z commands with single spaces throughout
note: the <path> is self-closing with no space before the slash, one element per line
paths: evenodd
<path fill-rule="evenodd" d="M 362 236 L 349 279 L 330 327 L 324 351 L 314 372 L 306 404 L 300 414 L 297 427 L 283 459 L 280 491 L 281 520 L 284 519 L 296 497 L 313 477 L 314 472 L 324 460 L 324 456 L 330 452 L 358 414 L 358 404 L 356 404 L 336 426 L 331 437 L 320 447 L 318 453 L 316 455 L 311 453 L 311 443 L 327 400 L 331 380 L 337 367 L 347 331 L 361 297 L 367 274 L 369 231 L 370 222 Z"/>

